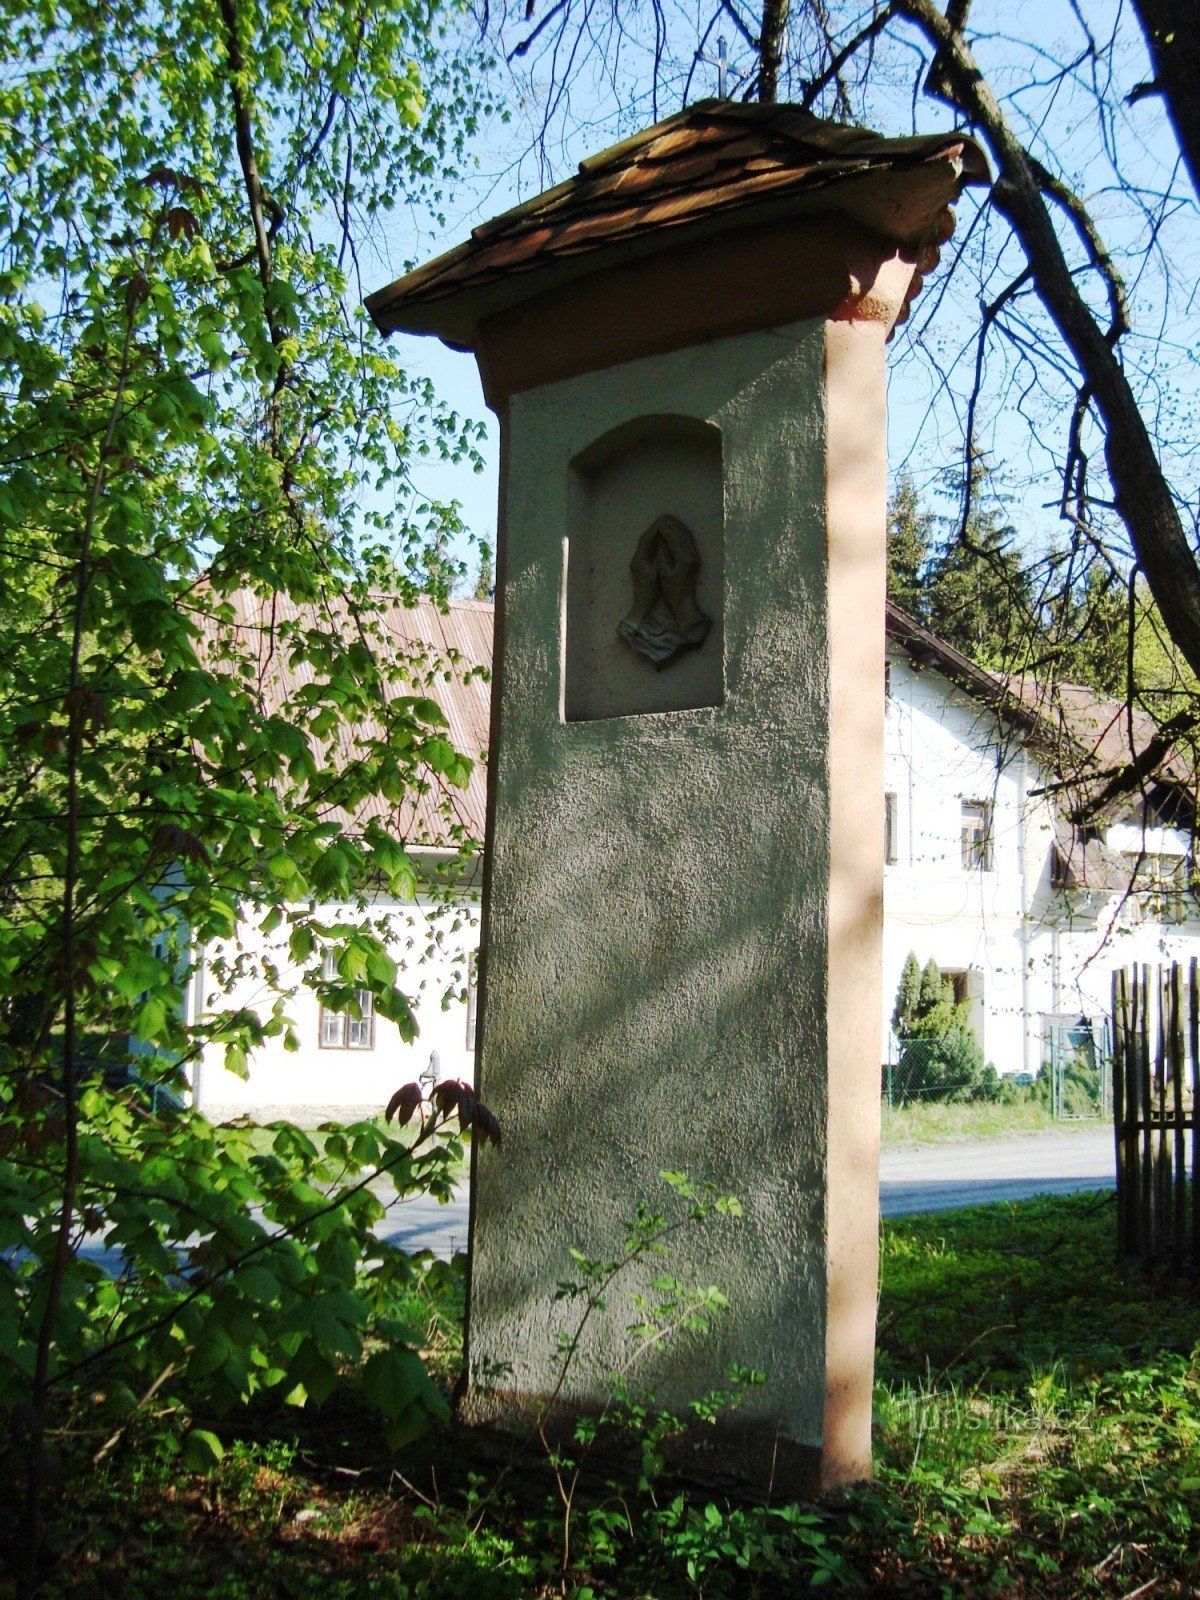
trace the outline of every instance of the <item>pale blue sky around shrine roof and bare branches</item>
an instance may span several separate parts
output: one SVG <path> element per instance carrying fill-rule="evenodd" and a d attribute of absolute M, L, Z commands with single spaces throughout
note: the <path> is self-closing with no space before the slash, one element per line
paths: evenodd
<path fill-rule="evenodd" d="M 685 11 L 682 5 L 677 16 L 683 18 L 678 26 L 686 35 Z M 1200 230 L 1194 197 L 1174 168 L 1174 144 L 1158 102 L 1125 106 L 1128 90 L 1146 75 L 1136 27 L 1117 0 L 1094 0 L 1085 11 L 1096 37 L 1109 27 L 1117 29 L 1115 48 L 1106 58 L 1112 82 L 1096 78 L 1094 62 L 1080 64 L 1085 35 L 1070 0 L 976 0 L 971 11 L 978 29 L 974 48 L 1006 96 L 1010 115 L 1027 146 L 1046 165 L 1056 165 L 1086 197 L 1125 270 L 1136 325 L 1134 336 L 1123 344 L 1126 365 L 1163 438 L 1163 454 L 1181 499 L 1189 502 L 1195 498 L 1195 440 L 1200 437 L 1200 307 L 1195 293 Z M 682 38 L 680 59 L 686 59 L 691 48 L 691 37 Z M 952 125 L 946 107 L 914 98 L 914 62 L 902 42 L 882 53 L 877 62 L 864 120 L 880 131 L 930 131 Z M 582 155 L 603 149 L 630 126 L 653 120 L 645 94 L 645 62 L 635 53 L 627 88 L 598 80 L 581 85 L 570 115 L 563 112 L 555 125 L 557 142 L 546 157 L 533 149 L 531 126 L 546 96 L 536 70 L 498 86 L 514 107 L 512 120 L 493 123 L 478 141 L 475 176 L 453 197 L 445 227 L 426 224 L 419 237 L 395 232 L 387 242 L 390 261 L 381 262 L 371 288 L 395 277 L 405 259 L 424 261 L 451 248 L 475 222 L 565 176 Z M 714 69 L 702 67 L 690 98 L 710 94 L 714 88 Z M 1107 120 L 1099 115 L 1098 88 L 1112 106 Z M 678 94 L 675 102 L 664 94 L 658 109 L 659 115 L 670 115 L 678 109 Z M 1013 245 L 1002 242 L 1003 226 L 973 195 L 960 203 L 955 243 L 946 253 L 941 274 L 926 285 L 909 326 L 893 342 L 890 365 L 893 474 L 912 470 L 926 499 L 947 517 L 954 510 L 952 499 L 938 496 L 962 462 L 965 392 L 974 370 L 979 302 L 1003 288 L 1021 266 Z M 1074 248 L 1069 232 L 1066 237 Z M 1149 243 L 1152 237 L 1157 245 Z M 968 270 L 957 270 L 950 278 L 946 266 L 960 243 Z M 1078 258 L 1078 251 L 1075 254 Z M 942 278 L 946 293 L 939 288 Z M 1082 282 L 1088 282 L 1086 274 Z M 1099 302 L 1099 285 L 1093 293 Z M 454 410 L 486 419 L 483 472 L 422 462 L 414 475 L 426 493 L 458 499 L 467 526 L 491 541 L 496 424 L 483 405 L 474 358 L 435 339 L 394 336 L 394 347 L 411 371 L 434 379 Z M 1064 453 L 1070 373 L 1061 376 L 1059 368 L 1054 338 L 1037 302 L 1029 294 L 1018 296 L 1006 338 L 989 347 L 978 442 L 994 467 L 997 493 L 1035 554 L 1061 538 L 1056 469 Z M 1093 458 L 1099 459 L 1099 438 L 1093 435 L 1088 443 Z"/>

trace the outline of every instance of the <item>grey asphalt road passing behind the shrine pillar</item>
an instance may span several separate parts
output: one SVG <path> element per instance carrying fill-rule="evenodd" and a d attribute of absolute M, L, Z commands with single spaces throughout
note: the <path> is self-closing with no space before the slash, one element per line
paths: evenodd
<path fill-rule="evenodd" d="M 1112 1189 L 1114 1184 L 1115 1157 L 1107 1125 L 974 1144 L 899 1146 L 885 1150 L 880 1162 L 880 1210 L 883 1216 L 958 1211 L 995 1200 Z M 450 1205 L 421 1197 L 392 1206 L 379 1234 L 406 1250 L 434 1250 L 446 1256 L 466 1250 L 466 1186 Z"/>

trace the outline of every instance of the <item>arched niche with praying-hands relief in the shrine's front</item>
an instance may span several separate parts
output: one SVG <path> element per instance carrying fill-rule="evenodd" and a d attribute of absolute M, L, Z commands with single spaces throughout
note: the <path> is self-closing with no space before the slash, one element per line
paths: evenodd
<path fill-rule="evenodd" d="M 565 544 L 566 722 L 720 706 L 720 429 L 640 416 L 571 464 Z"/>

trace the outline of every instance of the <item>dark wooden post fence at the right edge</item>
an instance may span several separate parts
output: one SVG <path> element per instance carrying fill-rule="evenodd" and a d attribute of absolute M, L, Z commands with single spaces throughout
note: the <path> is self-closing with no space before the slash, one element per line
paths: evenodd
<path fill-rule="evenodd" d="M 1200 1269 L 1200 971 L 1112 974 L 1117 1248 Z"/>

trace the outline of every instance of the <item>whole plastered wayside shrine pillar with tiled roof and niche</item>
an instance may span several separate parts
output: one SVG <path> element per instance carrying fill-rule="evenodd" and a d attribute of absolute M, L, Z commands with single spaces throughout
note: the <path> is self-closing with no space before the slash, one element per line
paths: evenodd
<path fill-rule="evenodd" d="M 758 1368 L 698 1474 L 870 1470 L 885 344 L 987 171 L 792 106 L 693 106 L 373 294 L 501 422 L 466 1416 L 605 1403 L 667 1270 L 730 1309 L 627 1381 Z M 736 1195 L 614 1278 L 662 1170 Z"/>

